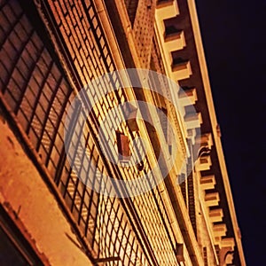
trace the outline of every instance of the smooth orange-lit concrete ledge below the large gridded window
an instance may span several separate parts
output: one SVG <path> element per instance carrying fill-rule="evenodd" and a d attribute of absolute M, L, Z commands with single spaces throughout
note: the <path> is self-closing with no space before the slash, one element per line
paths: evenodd
<path fill-rule="evenodd" d="M 92 265 L 43 178 L 7 123 L 0 120 L 1 201 L 20 209 L 21 223 L 51 265 Z"/>

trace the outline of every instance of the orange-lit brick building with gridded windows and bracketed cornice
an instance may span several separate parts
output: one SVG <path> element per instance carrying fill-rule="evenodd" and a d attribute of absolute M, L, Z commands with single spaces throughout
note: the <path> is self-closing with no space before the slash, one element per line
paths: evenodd
<path fill-rule="evenodd" d="M 1 265 L 246 265 L 193 0 L 2 0 L 0 21 Z M 67 160 L 66 111 L 92 80 L 125 68 L 151 69 L 177 82 L 183 118 L 155 92 L 129 86 L 109 93 L 78 132 L 86 148 L 74 151 L 73 160 L 90 176 L 89 186 Z M 110 80 L 121 84 L 120 76 Z M 105 88 L 98 82 L 89 101 Z M 113 147 L 120 153 L 141 156 L 144 148 L 130 144 L 147 139 L 152 148 L 141 165 L 106 160 L 99 121 L 136 99 L 173 121 L 181 158 L 173 168 L 171 145 L 160 145 L 161 136 L 169 144 L 167 125 L 149 110 L 160 129 L 137 120 L 116 125 L 116 118 L 110 125 L 119 129 Z M 131 107 L 126 119 L 137 112 Z M 168 175 L 153 190 L 136 186 L 130 188 L 135 197 L 113 197 L 93 189 L 127 192 L 116 180 L 148 172 L 159 153 L 161 168 L 152 178 L 162 168 Z M 97 171 L 85 167 L 89 161 Z M 110 186 L 106 175 L 113 177 Z"/>

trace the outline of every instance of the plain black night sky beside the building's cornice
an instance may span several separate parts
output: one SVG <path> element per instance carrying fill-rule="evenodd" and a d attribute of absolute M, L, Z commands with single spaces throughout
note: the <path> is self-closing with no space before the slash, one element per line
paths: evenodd
<path fill-rule="evenodd" d="M 266 254 L 266 1 L 196 0 L 246 264 Z"/>

